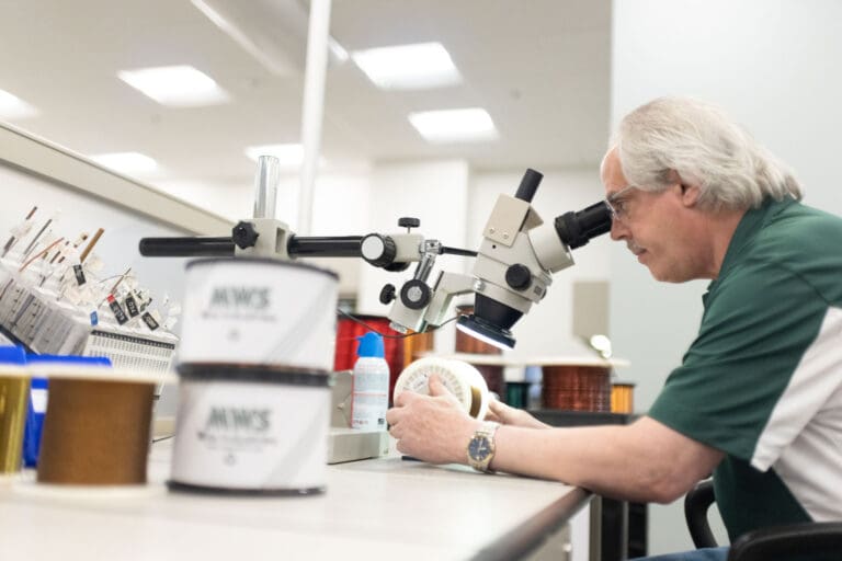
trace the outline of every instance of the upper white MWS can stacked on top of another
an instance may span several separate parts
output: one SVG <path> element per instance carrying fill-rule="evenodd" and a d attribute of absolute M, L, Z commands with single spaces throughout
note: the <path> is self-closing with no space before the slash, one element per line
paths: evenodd
<path fill-rule="evenodd" d="M 337 275 L 268 259 L 187 264 L 179 362 L 333 366 Z"/>

